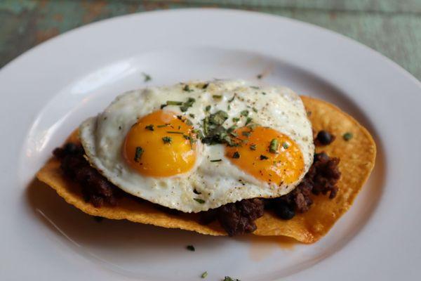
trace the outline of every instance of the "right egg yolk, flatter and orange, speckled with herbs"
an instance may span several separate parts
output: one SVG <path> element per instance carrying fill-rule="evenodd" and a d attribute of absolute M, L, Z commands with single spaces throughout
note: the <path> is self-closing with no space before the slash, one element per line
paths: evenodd
<path fill-rule="evenodd" d="M 283 133 L 258 126 L 234 131 L 238 146 L 227 146 L 225 155 L 241 170 L 276 185 L 297 181 L 304 171 L 304 159 L 298 145 Z"/>

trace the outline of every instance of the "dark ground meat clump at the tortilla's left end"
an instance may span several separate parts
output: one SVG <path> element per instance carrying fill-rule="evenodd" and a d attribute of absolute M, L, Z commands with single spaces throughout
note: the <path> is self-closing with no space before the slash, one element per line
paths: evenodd
<path fill-rule="evenodd" d="M 86 202 L 91 202 L 95 207 L 104 204 L 115 206 L 123 192 L 90 166 L 83 153 L 81 145 L 74 143 L 67 143 L 63 148 L 53 151 L 55 157 L 60 159 L 60 168 L 65 175 L 81 185 Z"/>

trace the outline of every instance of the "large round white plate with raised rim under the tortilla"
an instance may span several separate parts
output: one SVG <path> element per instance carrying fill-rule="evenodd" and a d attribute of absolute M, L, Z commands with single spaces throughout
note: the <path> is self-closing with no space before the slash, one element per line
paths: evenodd
<path fill-rule="evenodd" d="M 264 83 L 342 107 L 377 142 L 370 181 L 316 244 L 97 223 L 32 182 L 51 150 L 123 91 L 260 73 Z M 199 280 L 207 270 L 207 280 L 416 280 L 420 92 L 419 81 L 369 48 L 272 15 L 160 11 L 67 32 L 0 71 L 1 279 Z"/>

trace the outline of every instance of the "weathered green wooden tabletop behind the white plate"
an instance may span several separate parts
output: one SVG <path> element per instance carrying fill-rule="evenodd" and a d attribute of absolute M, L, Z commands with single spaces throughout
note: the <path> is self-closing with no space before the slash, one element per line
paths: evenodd
<path fill-rule="evenodd" d="M 374 48 L 421 79 L 421 0 L 0 0 L 0 67 L 89 22 L 188 7 L 241 8 L 311 22 Z"/>

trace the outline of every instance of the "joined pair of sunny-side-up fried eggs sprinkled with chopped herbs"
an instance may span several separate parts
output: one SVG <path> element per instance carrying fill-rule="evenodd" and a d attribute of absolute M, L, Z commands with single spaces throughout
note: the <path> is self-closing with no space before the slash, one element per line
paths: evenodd
<path fill-rule="evenodd" d="M 129 91 L 79 132 L 86 159 L 114 185 L 183 212 L 285 195 L 314 155 L 300 97 L 241 80 Z"/>

